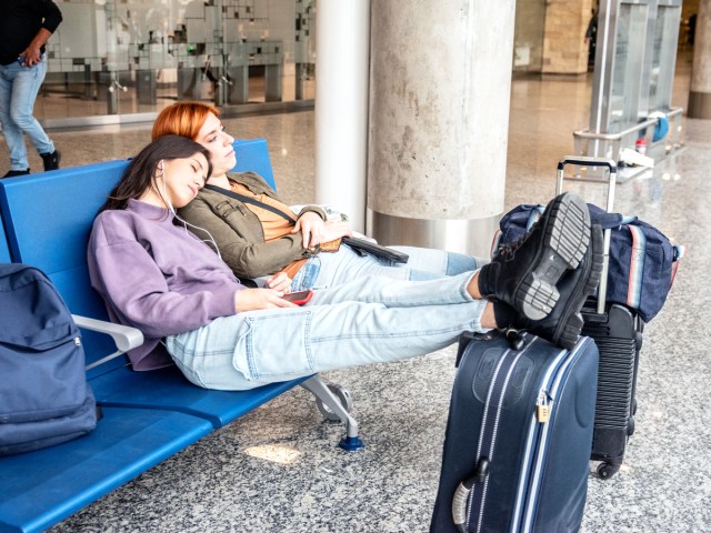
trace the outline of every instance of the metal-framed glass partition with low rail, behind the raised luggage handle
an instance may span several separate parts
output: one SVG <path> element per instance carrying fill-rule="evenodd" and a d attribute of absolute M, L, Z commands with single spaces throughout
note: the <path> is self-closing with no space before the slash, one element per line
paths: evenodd
<path fill-rule="evenodd" d="M 573 133 L 577 153 L 661 160 L 673 149 L 673 135 L 654 128 L 660 113 L 680 115 L 671 108 L 680 13 L 681 0 L 601 0 L 590 128 Z"/>

